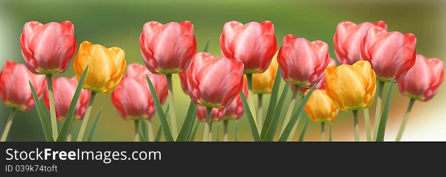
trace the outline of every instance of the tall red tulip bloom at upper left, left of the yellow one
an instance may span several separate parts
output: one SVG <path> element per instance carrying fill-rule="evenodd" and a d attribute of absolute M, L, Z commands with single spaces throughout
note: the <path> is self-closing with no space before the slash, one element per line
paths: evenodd
<path fill-rule="evenodd" d="M 20 36 L 22 56 L 34 74 L 63 73 L 71 63 L 78 45 L 70 21 L 42 24 L 30 21 Z"/>

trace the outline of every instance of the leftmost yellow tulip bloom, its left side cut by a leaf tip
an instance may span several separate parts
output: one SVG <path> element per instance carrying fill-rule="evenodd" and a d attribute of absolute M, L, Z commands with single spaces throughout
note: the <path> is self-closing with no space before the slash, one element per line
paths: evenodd
<path fill-rule="evenodd" d="M 73 62 L 78 81 L 87 65 L 83 88 L 92 92 L 111 93 L 123 77 L 126 68 L 125 52 L 119 47 L 107 49 L 84 41 Z"/>

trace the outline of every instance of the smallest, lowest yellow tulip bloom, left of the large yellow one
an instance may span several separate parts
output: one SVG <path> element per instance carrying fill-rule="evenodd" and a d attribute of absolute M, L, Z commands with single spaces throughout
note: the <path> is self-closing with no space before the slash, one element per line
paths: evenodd
<path fill-rule="evenodd" d="M 305 105 L 305 112 L 313 122 L 332 122 L 338 116 L 339 109 L 324 90 L 314 90 Z"/>

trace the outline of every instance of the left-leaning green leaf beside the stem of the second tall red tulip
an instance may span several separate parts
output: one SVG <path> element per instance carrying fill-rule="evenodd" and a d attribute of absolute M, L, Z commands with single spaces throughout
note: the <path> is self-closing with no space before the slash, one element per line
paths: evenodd
<path fill-rule="evenodd" d="M 145 75 L 147 79 L 148 88 L 150 88 L 150 93 L 152 94 L 152 98 L 155 103 L 155 109 L 157 110 L 158 117 L 160 118 L 161 126 L 163 127 L 164 137 L 166 141 L 174 141 L 172 134 L 170 133 L 169 124 L 167 123 L 166 115 L 164 114 L 163 108 L 161 107 L 160 99 L 158 98 L 157 91 L 152 84 L 152 81 L 148 79 L 148 76 Z"/>

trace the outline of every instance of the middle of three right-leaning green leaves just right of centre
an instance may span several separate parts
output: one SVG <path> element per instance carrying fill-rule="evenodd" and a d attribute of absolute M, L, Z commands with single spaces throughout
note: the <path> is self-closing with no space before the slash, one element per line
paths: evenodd
<path fill-rule="evenodd" d="M 282 93 L 280 94 L 279 102 L 277 103 L 276 110 L 274 111 L 274 114 L 272 115 L 271 125 L 266 130 L 264 141 L 273 141 L 274 135 L 276 134 L 277 130 L 277 124 L 279 123 L 280 114 L 282 113 L 283 104 L 286 102 L 286 95 L 288 94 L 289 83 L 287 82 L 285 84 L 285 87 L 283 87 Z"/>

